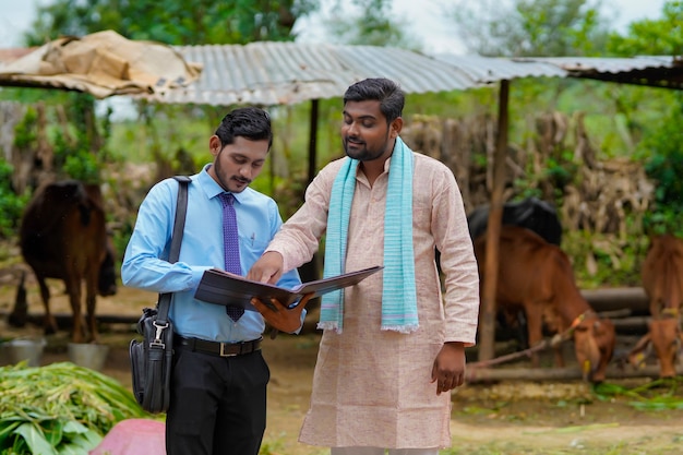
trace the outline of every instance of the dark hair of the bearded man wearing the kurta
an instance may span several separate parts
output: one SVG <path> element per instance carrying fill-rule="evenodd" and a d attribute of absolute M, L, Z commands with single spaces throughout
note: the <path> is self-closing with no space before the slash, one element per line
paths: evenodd
<path fill-rule="evenodd" d="M 387 124 L 403 116 L 406 94 L 394 81 L 384 77 L 366 79 L 348 87 L 344 94 L 345 105 L 347 101 L 369 99 L 380 101 L 380 110 Z"/>

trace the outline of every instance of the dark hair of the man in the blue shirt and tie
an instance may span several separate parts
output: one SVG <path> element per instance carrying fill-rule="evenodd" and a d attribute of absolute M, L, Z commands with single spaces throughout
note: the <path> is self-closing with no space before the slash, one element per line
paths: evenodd
<path fill-rule="evenodd" d="M 268 148 L 273 145 L 273 130 L 271 117 L 257 107 L 241 107 L 228 112 L 214 133 L 220 140 L 220 145 L 229 145 L 235 137 L 242 136 L 250 141 L 268 141 Z"/>

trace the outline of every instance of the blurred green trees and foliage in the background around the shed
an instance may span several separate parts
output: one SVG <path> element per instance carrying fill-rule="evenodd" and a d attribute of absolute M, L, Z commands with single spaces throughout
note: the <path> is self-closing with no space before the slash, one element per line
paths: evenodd
<path fill-rule="evenodd" d="M 392 15 L 390 0 L 351 3 L 354 14 L 323 19 L 331 41 L 420 50 L 419 40 L 404 32 L 403 25 L 409 19 Z M 39 8 L 24 41 L 37 46 L 61 35 L 82 36 L 104 29 L 130 39 L 177 46 L 295 40 L 296 21 L 319 7 L 314 0 L 56 0 Z M 601 3 L 590 0 L 513 0 L 505 4 L 458 0 L 444 7 L 443 20 L 453 25 L 454 34 L 472 55 L 683 55 L 682 1 L 667 1 L 658 19 L 632 23 L 625 32 L 612 29 L 610 19 L 601 11 Z M 683 236 L 683 94 L 566 79 L 516 80 L 512 88 L 512 147 L 532 153 L 529 144 L 538 139 L 536 122 L 541 116 L 580 116 L 598 159 L 624 159 L 645 171 L 655 189 L 652 203 L 643 216 L 625 209 L 625 235 L 565 227 L 563 240 L 580 286 L 638 285 L 638 264 L 647 235 L 670 231 Z M 496 92 L 492 87 L 409 95 L 404 117 L 408 125 L 419 116 L 494 118 Z M 233 107 L 130 101 L 129 115 L 121 118 L 115 116 L 111 104 L 77 93 L 2 88 L 0 100 L 25 108 L 14 131 L 13 147 L 27 153 L 50 151 L 52 170 L 60 178 L 103 183 L 112 206 L 118 207 L 109 216 L 119 258 L 146 191 L 161 178 L 201 169 L 211 159 L 208 137 L 223 115 Z M 301 203 L 308 183 L 311 107 L 300 104 L 266 108 L 274 120 L 272 154 L 277 155 L 278 166 L 264 171 L 253 188 L 274 195 L 287 218 Z M 343 154 L 338 139 L 340 109 L 338 98 L 320 101 L 319 167 Z M 562 207 L 566 185 L 580 184 L 577 169 L 584 164 L 576 160 L 573 144 L 558 147 L 552 159 L 524 169 L 515 178 L 511 199 L 543 196 Z M 483 151 L 475 149 L 472 154 L 475 161 L 486 166 Z M 11 176 L 16 171 L 11 163 L 0 159 L 0 238 L 8 241 L 14 241 L 23 207 L 35 190 L 33 185 L 13 185 Z"/>

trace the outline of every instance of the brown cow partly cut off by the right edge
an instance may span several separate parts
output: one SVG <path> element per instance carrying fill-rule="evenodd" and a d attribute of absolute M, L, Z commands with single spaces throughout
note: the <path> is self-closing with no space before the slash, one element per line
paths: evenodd
<path fill-rule="evenodd" d="M 675 361 L 683 342 L 680 311 L 683 303 L 683 240 L 655 236 L 640 270 L 643 288 L 650 301 L 648 333 L 628 352 L 628 361 L 638 367 L 642 352 L 650 345 L 659 359 L 659 375 L 675 376 Z"/>

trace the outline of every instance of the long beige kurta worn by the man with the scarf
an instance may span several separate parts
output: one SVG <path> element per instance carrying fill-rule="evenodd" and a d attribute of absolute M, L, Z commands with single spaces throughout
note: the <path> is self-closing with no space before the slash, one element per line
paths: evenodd
<path fill-rule="evenodd" d="M 348 159 L 348 158 L 343 158 Z M 308 261 L 327 224 L 329 194 L 342 159 L 311 183 L 305 203 L 268 250 L 285 268 Z M 383 264 L 385 172 L 373 187 L 359 171 L 351 206 L 346 272 Z M 434 358 L 444 342 L 475 343 L 479 278 L 463 200 L 451 170 L 415 154 L 412 228 L 419 330 L 380 330 L 382 273 L 346 288 L 344 331 L 325 331 L 300 441 L 324 446 L 420 448 L 451 446 L 451 396 L 436 395 Z M 441 251 L 445 299 L 434 262 Z M 445 307 L 442 301 L 445 300 Z M 445 311 L 444 311 L 445 308 Z"/>

